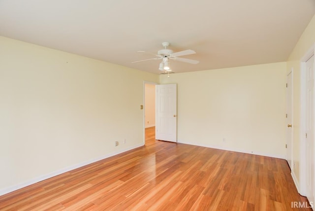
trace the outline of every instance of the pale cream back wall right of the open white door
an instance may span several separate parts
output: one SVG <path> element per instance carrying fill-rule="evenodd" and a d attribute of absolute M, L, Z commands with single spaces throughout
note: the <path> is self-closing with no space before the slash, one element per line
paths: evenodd
<path fill-rule="evenodd" d="M 286 63 L 160 75 L 178 84 L 178 141 L 285 157 Z"/>

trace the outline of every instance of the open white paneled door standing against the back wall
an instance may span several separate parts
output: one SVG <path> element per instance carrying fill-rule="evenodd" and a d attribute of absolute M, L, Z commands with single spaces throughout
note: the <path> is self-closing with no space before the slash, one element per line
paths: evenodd
<path fill-rule="evenodd" d="M 177 141 L 177 84 L 156 85 L 156 140 Z"/>

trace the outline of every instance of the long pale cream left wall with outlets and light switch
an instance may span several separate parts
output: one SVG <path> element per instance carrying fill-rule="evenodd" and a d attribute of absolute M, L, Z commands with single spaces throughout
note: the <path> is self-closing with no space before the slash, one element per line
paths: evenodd
<path fill-rule="evenodd" d="M 0 195 L 143 145 L 143 81 L 158 75 L 1 36 L 0 48 Z"/>

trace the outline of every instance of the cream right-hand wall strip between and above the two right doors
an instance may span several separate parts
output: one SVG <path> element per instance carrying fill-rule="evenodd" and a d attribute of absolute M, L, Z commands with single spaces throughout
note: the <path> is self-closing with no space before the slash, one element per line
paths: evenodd
<path fill-rule="evenodd" d="M 305 29 L 303 35 L 300 37 L 295 48 L 289 56 L 287 61 L 287 73 L 293 69 L 293 155 L 292 160 L 296 163 L 292 174 L 295 177 L 297 186 L 300 184 L 300 118 L 301 118 L 301 102 L 300 102 L 300 88 L 301 88 L 301 70 L 300 60 L 308 52 L 308 50 L 315 44 L 315 16 L 312 18 L 308 27 Z"/>

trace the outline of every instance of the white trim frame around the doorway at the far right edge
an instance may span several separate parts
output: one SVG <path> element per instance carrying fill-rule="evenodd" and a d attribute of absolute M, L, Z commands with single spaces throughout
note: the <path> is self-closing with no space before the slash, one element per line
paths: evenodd
<path fill-rule="evenodd" d="M 307 51 L 307 53 L 302 57 L 300 60 L 300 83 L 301 83 L 301 110 L 300 110 L 300 185 L 297 187 L 299 193 L 303 196 L 306 196 L 307 190 L 307 167 L 306 167 L 306 138 L 305 138 L 305 131 L 306 131 L 306 62 L 315 55 L 315 43 L 312 47 Z M 315 151 L 315 150 L 314 150 Z"/>

